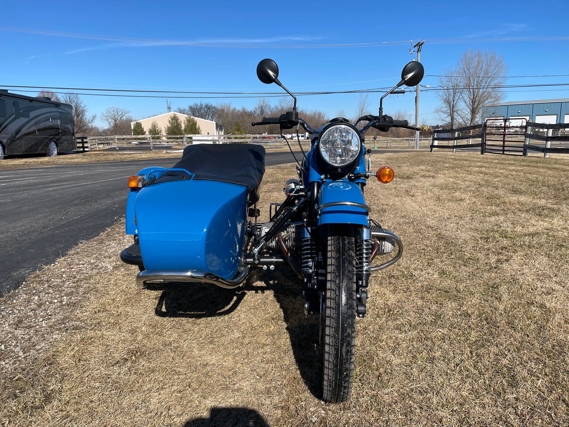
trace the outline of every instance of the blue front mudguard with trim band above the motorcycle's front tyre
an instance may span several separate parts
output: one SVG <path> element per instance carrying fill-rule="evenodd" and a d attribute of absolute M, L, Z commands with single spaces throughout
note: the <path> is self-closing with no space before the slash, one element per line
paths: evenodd
<path fill-rule="evenodd" d="M 358 184 L 348 181 L 325 182 L 320 188 L 319 206 L 336 202 L 353 202 L 365 206 L 364 194 Z M 318 225 L 361 224 L 369 225 L 368 211 L 357 206 L 329 206 L 319 211 Z"/>

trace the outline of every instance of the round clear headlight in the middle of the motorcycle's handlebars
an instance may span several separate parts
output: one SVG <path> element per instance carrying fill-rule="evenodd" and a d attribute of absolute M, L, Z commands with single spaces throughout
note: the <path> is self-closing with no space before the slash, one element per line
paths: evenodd
<path fill-rule="evenodd" d="M 360 144 L 360 135 L 346 125 L 331 126 L 318 140 L 322 158 L 337 167 L 352 163 L 360 153 Z"/>

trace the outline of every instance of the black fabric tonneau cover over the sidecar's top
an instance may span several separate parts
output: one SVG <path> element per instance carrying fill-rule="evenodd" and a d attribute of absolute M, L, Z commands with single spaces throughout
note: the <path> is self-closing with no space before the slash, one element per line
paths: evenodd
<path fill-rule="evenodd" d="M 249 188 L 249 204 L 259 200 L 265 173 L 265 147 L 256 144 L 196 144 L 185 147 L 174 168 L 185 169 L 194 179 L 241 184 Z"/>

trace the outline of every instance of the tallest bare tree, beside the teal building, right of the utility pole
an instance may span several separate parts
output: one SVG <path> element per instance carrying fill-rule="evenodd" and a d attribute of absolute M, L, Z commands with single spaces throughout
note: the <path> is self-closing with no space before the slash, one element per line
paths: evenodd
<path fill-rule="evenodd" d="M 508 67 L 496 52 L 471 49 L 460 58 L 457 71 L 464 121 L 473 125 L 481 120 L 486 107 L 502 100 L 504 92 L 498 86 L 505 83 Z"/>

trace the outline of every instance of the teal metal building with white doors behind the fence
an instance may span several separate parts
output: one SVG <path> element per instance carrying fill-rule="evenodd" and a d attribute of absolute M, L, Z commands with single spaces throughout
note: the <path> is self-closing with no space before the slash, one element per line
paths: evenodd
<path fill-rule="evenodd" d="M 484 118 L 506 118 L 512 126 L 522 124 L 523 119 L 546 124 L 569 123 L 569 98 L 501 102 L 490 105 Z"/>

